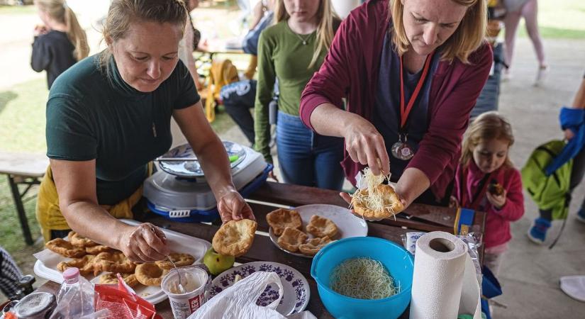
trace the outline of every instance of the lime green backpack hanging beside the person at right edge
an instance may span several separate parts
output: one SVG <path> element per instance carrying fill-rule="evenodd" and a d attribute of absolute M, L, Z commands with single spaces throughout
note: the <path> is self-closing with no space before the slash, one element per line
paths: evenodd
<path fill-rule="evenodd" d="M 538 208 L 552 210 L 552 219 L 565 219 L 569 213 L 569 184 L 573 160 L 550 176 L 545 176 L 545 168 L 562 152 L 564 145 L 562 140 L 551 140 L 536 147 L 522 169 L 524 188 Z"/>

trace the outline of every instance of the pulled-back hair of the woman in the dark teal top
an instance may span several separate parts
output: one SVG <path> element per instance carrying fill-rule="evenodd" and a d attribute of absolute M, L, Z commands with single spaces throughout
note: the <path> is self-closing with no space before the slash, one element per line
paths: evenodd
<path fill-rule="evenodd" d="M 104 39 L 116 42 L 126 37 L 130 24 L 136 21 L 176 24 L 183 33 L 187 15 L 183 0 L 113 0 L 102 33 Z M 108 76 L 111 55 L 109 48 L 99 55 L 99 65 L 106 69 Z"/>

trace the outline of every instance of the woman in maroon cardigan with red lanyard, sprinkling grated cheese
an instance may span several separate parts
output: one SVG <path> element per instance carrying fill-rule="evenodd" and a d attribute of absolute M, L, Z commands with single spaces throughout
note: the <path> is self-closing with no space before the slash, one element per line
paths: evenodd
<path fill-rule="evenodd" d="M 300 111 L 317 133 L 345 138 L 352 184 L 368 165 L 391 173 L 405 207 L 447 205 L 491 67 L 486 14 L 485 0 L 371 0 L 342 22 Z"/>

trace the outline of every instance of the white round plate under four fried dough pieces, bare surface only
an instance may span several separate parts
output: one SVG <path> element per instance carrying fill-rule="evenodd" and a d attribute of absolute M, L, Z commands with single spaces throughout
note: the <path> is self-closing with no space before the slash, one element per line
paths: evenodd
<path fill-rule="evenodd" d="M 315 238 L 315 236 L 311 235 L 311 233 L 307 232 L 307 225 L 311 222 L 311 217 L 313 215 L 321 216 L 323 218 L 328 218 L 335 226 L 338 228 L 338 232 L 336 235 L 331 238 L 332 240 L 340 240 L 342 238 L 348 237 L 364 237 L 367 236 L 368 228 L 367 223 L 362 219 L 354 216 L 352 212 L 341 206 L 336 205 L 328 205 L 328 204 L 312 204 L 312 205 L 305 205 L 299 206 L 296 208 L 292 208 L 292 210 L 299 213 L 301 216 L 301 220 L 303 225 L 301 227 L 301 231 L 308 235 L 308 239 Z M 279 247 L 284 252 L 288 252 L 289 254 L 294 254 L 295 256 L 299 257 L 307 257 L 312 258 L 313 256 L 309 256 L 306 254 L 302 254 L 301 252 L 291 252 L 289 250 L 284 249 L 278 244 L 278 238 L 272 227 L 269 229 L 270 240 Z"/>

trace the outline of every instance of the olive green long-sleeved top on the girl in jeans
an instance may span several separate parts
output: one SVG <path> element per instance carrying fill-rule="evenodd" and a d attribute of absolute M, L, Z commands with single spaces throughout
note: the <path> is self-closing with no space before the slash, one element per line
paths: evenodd
<path fill-rule="evenodd" d="M 313 67 L 308 68 L 316 47 L 316 32 L 298 35 L 286 21 L 264 29 L 258 41 L 258 84 L 255 103 L 255 148 L 264 159 L 270 156 L 270 125 L 268 104 L 272 101 L 274 82 L 278 79 L 279 111 L 299 116 L 301 94 L 313 73 L 318 71 L 327 50 L 322 50 Z M 303 45 L 306 40 L 306 45 Z"/>

